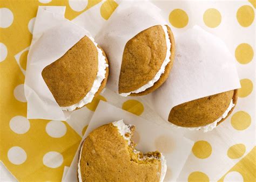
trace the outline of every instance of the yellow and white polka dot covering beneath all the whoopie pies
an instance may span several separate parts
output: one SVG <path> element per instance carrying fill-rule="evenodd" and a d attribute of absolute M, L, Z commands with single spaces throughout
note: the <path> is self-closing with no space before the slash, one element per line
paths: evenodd
<path fill-rule="evenodd" d="M 214 135 L 209 132 L 188 136 L 195 143 L 180 180 L 255 181 L 255 0 L 154 3 L 164 10 L 173 31 L 199 24 L 223 39 L 237 60 L 240 76 L 238 106 L 232 115 L 214 130 Z M 17 180 L 60 181 L 64 166 L 70 166 L 99 100 L 144 118 L 152 115 L 143 101 L 134 97 L 118 99 L 106 90 L 92 103 L 77 110 L 67 122 L 28 120 L 23 83 L 39 5 L 66 6 L 65 17 L 79 22 L 79 17 L 86 16 L 87 10 L 95 5 L 99 5 L 94 12 L 98 20 L 105 21 L 118 4 L 100 0 L 0 0 L 0 160 Z M 233 139 L 225 141 L 225 136 Z M 218 137 L 223 141 L 219 145 L 215 142 Z M 159 146 L 165 151 L 172 147 L 175 146 L 168 143 Z M 224 166 L 211 168 L 220 161 L 225 161 L 228 169 Z M 205 166 L 221 171 L 222 177 L 216 179 Z M 171 171 L 167 171 L 166 180 L 169 178 Z"/>

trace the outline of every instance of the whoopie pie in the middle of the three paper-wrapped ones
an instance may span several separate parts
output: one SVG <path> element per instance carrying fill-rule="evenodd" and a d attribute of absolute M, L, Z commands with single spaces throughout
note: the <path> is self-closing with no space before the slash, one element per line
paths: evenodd
<path fill-rule="evenodd" d="M 119 76 L 119 94 L 146 95 L 169 76 L 174 60 L 174 37 L 167 25 L 156 25 L 127 41 Z"/>

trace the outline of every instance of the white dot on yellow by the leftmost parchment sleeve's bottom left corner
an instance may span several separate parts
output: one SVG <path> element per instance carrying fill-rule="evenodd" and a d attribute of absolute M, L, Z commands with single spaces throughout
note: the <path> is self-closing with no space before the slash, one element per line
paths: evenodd
<path fill-rule="evenodd" d="M 25 134 L 30 128 L 29 120 L 23 116 L 12 117 L 9 125 L 16 134 Z"/>

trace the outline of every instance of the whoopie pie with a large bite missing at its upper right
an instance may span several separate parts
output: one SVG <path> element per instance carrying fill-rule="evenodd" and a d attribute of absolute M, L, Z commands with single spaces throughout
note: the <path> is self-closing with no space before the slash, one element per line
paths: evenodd
<path fill-rule="evenodd" d="M 79 151 L 79 181 L 163 181 L 166 160 L 156 152 L 143 154 L 131 141 L 134 126 L 122 120 L 102 125 Z"/>

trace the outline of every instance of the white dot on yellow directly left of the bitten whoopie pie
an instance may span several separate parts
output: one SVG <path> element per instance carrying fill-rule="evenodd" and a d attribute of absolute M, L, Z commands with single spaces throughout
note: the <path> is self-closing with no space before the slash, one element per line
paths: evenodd
<path fill-rule="evenodd" d="M 59 152 L 48 152 L 43 157 L 43 163 L 47 167 L 59 167 L 63 163 L 63 156 Z"/>

